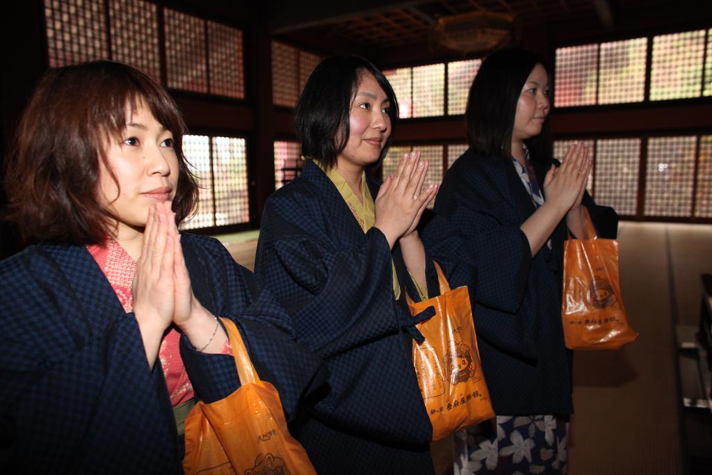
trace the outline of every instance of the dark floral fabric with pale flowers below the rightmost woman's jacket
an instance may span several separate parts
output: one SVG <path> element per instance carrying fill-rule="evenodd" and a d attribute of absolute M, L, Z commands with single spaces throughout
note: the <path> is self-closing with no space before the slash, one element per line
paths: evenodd
<path fill-rule="evenodd" d="M 497 416 L 454 435 L 454 474 L 566 474 L 567 416 Z"/>

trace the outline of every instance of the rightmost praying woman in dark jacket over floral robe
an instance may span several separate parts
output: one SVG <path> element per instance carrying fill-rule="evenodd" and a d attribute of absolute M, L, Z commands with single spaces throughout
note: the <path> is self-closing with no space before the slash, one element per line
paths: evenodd
<path fill-rule="evenodd" d="M 456 473 L 565 471 L 573 412 L 561 324 L 562 249 L 585 237 L 592 164 L 582 145 L 551 158 L 550 80 L 538 56 L 492 53 L 466 110 L 470 148 L 449 169 L 424 231 L 452 286 L 467 285 L 483 372 L 498 414 L 456 435 Z"/>

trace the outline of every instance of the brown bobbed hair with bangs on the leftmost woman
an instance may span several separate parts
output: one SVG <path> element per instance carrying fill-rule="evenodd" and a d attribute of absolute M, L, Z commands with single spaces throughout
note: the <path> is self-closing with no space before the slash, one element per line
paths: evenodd
<path fill-rule="evenodd" d="M 127 111 L 140 105 L 174 137 L 176 221 L 192 214 L 198 186 L 183 155 L 187 129 L 174 100 L 131 66 L 93 61 L 48 71 L 19 122 L 6 160 L 6 219 L 18 224 L 24 239 L 78 245 L 105 241 L 114 219 L 98 192 L 99 160 L 110 170 L 105 144 L 121 139 Z"/>

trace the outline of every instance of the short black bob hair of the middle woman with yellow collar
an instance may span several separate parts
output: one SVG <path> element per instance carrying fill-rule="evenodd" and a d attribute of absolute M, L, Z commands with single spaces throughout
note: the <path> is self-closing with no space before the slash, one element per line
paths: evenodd
<path fill-rule="evenodd" d="M 390 107 L 390 135 L 375 166 L 388 152 L 398 118 L 398 103 L 390 83 L 370 61 L 360 56 L 333 56 L 315 68 L 304 86 L 294 112 L 297 138 L 302 155 L 317 160 L 326 169 L 336 164 L 336 157 L 349 140 L 349 115 L 362 74 L 376 78 Z"/>

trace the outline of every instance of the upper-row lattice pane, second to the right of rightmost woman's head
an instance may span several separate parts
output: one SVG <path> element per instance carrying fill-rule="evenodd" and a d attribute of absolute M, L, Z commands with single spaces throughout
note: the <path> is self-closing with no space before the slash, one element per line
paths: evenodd
<path fill-rule="evenodd" d="M 647 38 L 601 43 L 599 104 L 644 100 L 647 46 Z"/>

